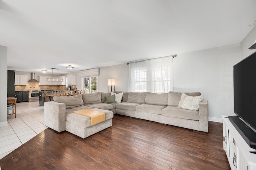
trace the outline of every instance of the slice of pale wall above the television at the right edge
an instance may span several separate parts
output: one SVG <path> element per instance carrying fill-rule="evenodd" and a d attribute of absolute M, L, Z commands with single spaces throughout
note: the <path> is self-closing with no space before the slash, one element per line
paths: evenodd
<path fill-rule="evenodd" d="M 256 51 L 256 49 L 248 49 L 253 45 L 254 41 L 256 41 L 256 27 L 254 27 L 241 42 L 241 60 L 245 59 Z"/>

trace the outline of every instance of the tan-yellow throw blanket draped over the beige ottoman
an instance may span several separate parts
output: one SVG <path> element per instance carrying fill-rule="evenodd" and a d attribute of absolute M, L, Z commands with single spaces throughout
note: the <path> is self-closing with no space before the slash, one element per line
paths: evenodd
<path fill-rule="evenodd" d="M 91 109 L 82 109 L 78 111 L 73 111 L 73 113 L 84 115 L 91 118 L 91 125 L 100 123 L 105 120 L 105 113 L 102 111 L 95 111 Z"/>

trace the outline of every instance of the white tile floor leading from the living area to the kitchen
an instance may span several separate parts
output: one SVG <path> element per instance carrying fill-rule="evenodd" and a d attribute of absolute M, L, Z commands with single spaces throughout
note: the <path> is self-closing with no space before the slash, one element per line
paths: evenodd
<path fill-rule="evenodd" d="M 39 102 L 17 103 L 16 111 L 16 118 L 7 115 L 8 126 L 0 127 L 0 159 L 47 128 Z"/>

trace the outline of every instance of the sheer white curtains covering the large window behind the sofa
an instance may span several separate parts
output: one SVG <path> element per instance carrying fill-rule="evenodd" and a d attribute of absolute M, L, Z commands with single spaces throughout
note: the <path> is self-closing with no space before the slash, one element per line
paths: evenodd
<path fill-rule="evenodd" d="M 129 63 L 129 92 L 173 91 L 172 56 Z"/>

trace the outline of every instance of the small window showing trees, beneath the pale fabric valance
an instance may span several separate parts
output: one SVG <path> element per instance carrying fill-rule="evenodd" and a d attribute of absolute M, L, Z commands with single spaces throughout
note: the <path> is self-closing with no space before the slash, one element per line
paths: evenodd
<path fill-rule="evenodd" d="M 97 92 L 97 79 L 98 76 L 93 77 L 82 77 L 83 89 L 85 93 L 96 93 Z"/>

